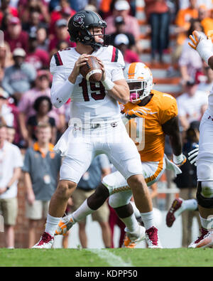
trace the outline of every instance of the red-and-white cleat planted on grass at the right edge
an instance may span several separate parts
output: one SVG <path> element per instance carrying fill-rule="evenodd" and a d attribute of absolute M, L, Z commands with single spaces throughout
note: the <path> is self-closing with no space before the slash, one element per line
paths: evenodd
<path fill-rule="evenodd" d="M 213 248 L 213 231 L 201 228 L 200 237 L 192 242 L 188 248 Z"/>

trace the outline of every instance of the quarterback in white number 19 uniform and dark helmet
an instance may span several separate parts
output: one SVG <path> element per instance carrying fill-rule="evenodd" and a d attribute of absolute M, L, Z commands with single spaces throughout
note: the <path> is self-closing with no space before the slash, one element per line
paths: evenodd
<path fill-rule="evenodd" d="M 140 155 L 121 120 L 119 102 L 129 101 L 129 87 L 124 79 L 124 58 L 113 46 L 105 46 L 107 24 L 94 11 L 79 11 L 68 23 L 70 40 L 76 48 L 58 51 L 50 62 L 53 74 L 51 100 L 60 107 L 71 98 L 70 125 L 55 150 L 65 156 L 60 181 L 50 201 L 45 232 L 33 248 L 51 248 L 55 230 L 65 213 L 67 201 L 78 181 L 97 154 L 105 153 L 131 187 L 141 216 L 153 222 L 151 196 L 143 178 Z M 80 75 L 80 67 L 94 55 L 102 65 L 100 83 L 89 83 Z M 108 193 L 102 187 L 100 193 Z M 101 202 L 102 205 L 102 202 Z M 97 205 L 96 205 L 97 206 Z M 84 203 L 89 213 L 94 206 Z M 145 232 L 141 230 L 141 237 Z"/>

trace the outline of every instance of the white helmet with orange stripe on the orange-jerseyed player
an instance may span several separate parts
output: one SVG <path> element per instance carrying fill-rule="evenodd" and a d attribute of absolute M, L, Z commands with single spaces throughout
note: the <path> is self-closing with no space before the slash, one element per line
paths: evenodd
<path fill-rule="evenodd" d="M 144 63 L 131 63 L 124 69 L 124 77 L 129 85 L 130 101 L 138 102 L 147 97 L 153 88 L 153 74 Z"/>

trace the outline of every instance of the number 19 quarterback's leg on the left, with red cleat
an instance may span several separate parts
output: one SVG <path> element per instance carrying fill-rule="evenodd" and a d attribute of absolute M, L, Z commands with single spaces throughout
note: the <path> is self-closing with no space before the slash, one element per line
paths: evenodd
<path fill-rule="evenodd" d="M 58 187 L 50 200 L 45 231 L 40 241 L 33 248 L 52 247 L 55 230 L 65 213 L 67 202 L 75 191 L 82 174 L 89 168 L 92 157 L 94 157 L 92 144 L 89 145 L 80 139 L 79 142 L 77 142 L 77 139 L 75 139 L 75 142 L 70 142 L 70 149 L 60 167 Z"/>

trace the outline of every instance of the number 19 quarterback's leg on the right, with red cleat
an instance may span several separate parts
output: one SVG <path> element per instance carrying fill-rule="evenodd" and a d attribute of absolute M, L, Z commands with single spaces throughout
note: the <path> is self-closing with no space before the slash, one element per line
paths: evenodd
<path fill-rule="evenodd" d="M 136 207 L 146 228 L 147 243 L 151 248 L 161 248 L 158 229 L 155 228 L 151 194 L 143 177 L 141 158 L 136 145 L 126 132 L 121 132 L 121 142 L 111 143 L 109 159 L 126 179 Z M 119 137 L 118 137 L 119 138 Z"/>

